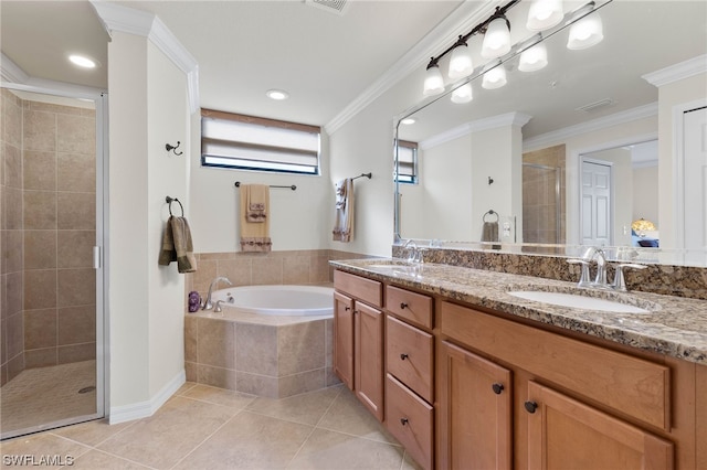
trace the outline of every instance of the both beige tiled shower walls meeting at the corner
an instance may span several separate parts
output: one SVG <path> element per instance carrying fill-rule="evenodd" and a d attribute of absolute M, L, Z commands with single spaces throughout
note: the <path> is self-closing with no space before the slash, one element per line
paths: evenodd
<path fill-rule="evenodd" d="M 95 359 L 95 111 L 1 95 L 0 382 Z"/>

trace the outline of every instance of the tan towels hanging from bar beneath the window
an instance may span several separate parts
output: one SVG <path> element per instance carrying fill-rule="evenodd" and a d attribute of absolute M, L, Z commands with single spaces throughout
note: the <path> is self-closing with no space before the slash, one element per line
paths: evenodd
<path fill-rule="evenodd" d="M 241 185 L 241 252 L 270 253 L 270 188 Z"/>

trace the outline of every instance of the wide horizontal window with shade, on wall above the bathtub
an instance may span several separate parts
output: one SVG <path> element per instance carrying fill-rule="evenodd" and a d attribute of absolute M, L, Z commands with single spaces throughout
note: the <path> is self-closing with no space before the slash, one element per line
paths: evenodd
<path fill-rule="evenodd" d="M 319 174 L 316 126 L 201 110 L 201 165 Z"/>

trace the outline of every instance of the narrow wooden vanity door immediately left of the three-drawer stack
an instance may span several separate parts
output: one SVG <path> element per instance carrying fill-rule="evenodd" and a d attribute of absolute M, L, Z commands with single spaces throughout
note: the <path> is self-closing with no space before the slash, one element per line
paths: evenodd
<path fill-rule="evenodd" d="M 355 302 L 354 361 L 356 396 L 383 420 L 383 316 L 380 310 Z"/>

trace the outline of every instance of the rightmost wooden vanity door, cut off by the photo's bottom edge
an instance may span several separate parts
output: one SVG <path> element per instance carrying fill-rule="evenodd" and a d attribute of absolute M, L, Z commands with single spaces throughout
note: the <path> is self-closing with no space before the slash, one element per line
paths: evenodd
<path fill-rule="evenodd" d="M 528 469 L 672 469 L 673 444 L 535 382 Z"/>

